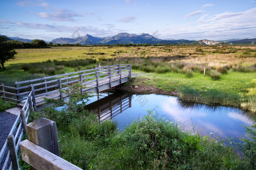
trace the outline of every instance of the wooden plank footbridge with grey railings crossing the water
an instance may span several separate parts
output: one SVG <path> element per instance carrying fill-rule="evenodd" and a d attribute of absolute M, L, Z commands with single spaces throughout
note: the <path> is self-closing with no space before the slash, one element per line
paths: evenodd
<path fill-rule="evenodd" d="M 99 93 L 108 88 L 117 86 L 131 79 L 131 64 L 116 64 L 113 66 L 98 66 L 90 70 L 82 70 L 61 75 L 43 77 L 39 79 L 15 82 L 15 87 L 7 87 L 1 84 L 1 98 L 14 100 L 18 102 L 18 106 L 23 107 L 27 96 L 32 92 L 33 107 L 44 104 L 44 98 L 48 99 L 64 99 L 67 95 L 59 92 L 59 90 L 68 89 L 63 84 L 72 84 L 82 82 L 86 88 L 81 92 L 88 94 Z M 10 92 L 11 91 L 11 92 Z"/>

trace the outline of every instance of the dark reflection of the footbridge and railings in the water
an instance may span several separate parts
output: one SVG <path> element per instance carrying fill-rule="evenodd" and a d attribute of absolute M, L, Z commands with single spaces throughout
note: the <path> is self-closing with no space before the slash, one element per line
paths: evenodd
<path fill-rule="evenodd" d="M 106 119 L 112 119 L 114 116 L 131 107 L 131 97 L 131 94 L 123 92 L 111 94 L 101 99 L 98 96 L 97 101 L 87 104 L 86 107 L 93 112 L 97 112 L 99 121 L 101 122 Z"/>

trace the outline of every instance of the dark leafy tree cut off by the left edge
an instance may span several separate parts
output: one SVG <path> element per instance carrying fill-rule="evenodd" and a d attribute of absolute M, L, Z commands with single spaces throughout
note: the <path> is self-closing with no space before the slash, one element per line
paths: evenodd
<path fill-rule="evenodd" d="M 17 52 L 14 50 L 12 43 L 6 42 L 7 37 L 4 35 L 0 36 L 0 63 L 4 67 L 4 63 L 10 59 L 14 59 Z M 0 67 L 1 68 L 1 67 Z"/>

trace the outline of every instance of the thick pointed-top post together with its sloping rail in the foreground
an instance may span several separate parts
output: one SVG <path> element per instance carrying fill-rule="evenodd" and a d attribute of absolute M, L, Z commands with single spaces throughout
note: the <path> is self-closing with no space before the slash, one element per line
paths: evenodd
<path fill-rule="evenodd" d="M 82 170 L 59 157 L 56 123 L 39 118 L 27 124 L 29 139 L 20 142 L 22 160 L 34 169 Z"/>

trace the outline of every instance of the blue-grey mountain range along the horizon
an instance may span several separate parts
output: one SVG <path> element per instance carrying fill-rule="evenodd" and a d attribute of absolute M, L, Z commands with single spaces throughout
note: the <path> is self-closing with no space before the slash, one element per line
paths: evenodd
<path fill-rule="evenodd" d="M 7 36 L 8 37 L 8 36 Z M 16 40 L 22 42 L 31 42 L 30 39 L 24 39 L 20 37 L 8 37 L 8 40 Z M 218 40 L 218 41 L 211 41 L 211 40 L 175 40 L 172 38 L 168 39 L 159 39 L 148 33 L 141 33 L 140 35 L 130 34 L 130 33 L 118 33 L 112 37 L 94 37 L 89 34 L 85 36 L 80 36 L 76 38 L 57 38 L 52 41 L 45 41 L 46 43 L 52 42 L 53 44 L 81 44 L 81 45 L 93 45 L 93 44 L 120 44 L 120 43 L 132 43 L 132 44 L 192 44 L 192 45 L 200 45 L 200 44 L 221 44 L 221 42 L 227 42 L 229 44 L 255 44 L 256 38 L 254 39 L 228 39 L 228 40 Z"/>

